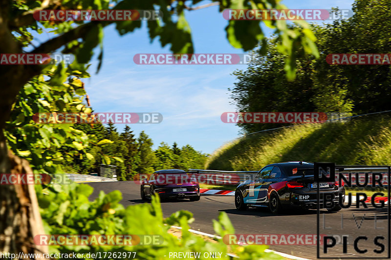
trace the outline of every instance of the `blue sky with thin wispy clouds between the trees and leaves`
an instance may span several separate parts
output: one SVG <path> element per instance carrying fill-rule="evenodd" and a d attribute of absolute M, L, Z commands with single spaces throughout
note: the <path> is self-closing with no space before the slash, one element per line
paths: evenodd
<path fill-rule="evenodd" d="M 350 9 L 353 0 L 284 0 L 291 9 Z M 205 3 L 205 2 L 204 2 Z M 195 53 L 243 53 L 232 47 L 225 36 L 224 20 L 218 7 L 186 12 L 192 28 Z M 270 30 L 264 28 L 270 34 Z M 99 74 L 96 61 L 91 78 L 84 80 L 95 112 L 159 112 L 159 124 L 130 124 L 136 135 L 142 130 L 152 138 L 154 148 L 164 141 L 170 145 L 190 144 L 196 150 L 212 153 L 239 137 L 235 124 L 223 123 L 223 112 L 235 111 L 230 104 L 230 75 L 246 65 L 137 65 L 137 53 L 170 53 L 158 39 L 150 43 L 145 28 L 119 36 L 113 26 L 105 29 L 104 60 Z M 119 131 L 125 124 L 116 124 Z"/>

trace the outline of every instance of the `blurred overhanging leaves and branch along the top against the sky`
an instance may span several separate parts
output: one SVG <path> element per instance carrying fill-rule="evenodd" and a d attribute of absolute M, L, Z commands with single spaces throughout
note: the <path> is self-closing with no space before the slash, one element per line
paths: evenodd
<path fill-rule="evenodd" d="M 202 2 L 200 0 L 180 1 L 180 0 L 122 0 L 114 1 L 112 9 L 117 10 L 159 10 L 162 12 L 162 20 L 149 20 L 147 26 L 149 37 L 152 40 L 159 39 L 162 47 L 170 44 L 173 53 L 193 53 L 194 46 L 191 35 L 191 28 L 185 18 L 185 10 L 193 4 Z M 219 4 L 219 12 L 224 9 L 287 9 L 279 0 L 238 0 L 225 1 L 213 0 Z M 112 4 L 112 3 L 111 3 Z M 80 63 L 87 63 L 94 54 L 94 49 L 100 46 L 100 54 L 97 56 L 99 62 L 98 70 L 103 59 L 103 28 L 114 23 L 120 35 L 133 32 L 141 28 L 141 20 L 124 21 L 36 21 L 32 14 L 34 10 L 42 9 L 76 9 L 76 10 L 97 10 L 109 9 L 108 0 L 95 1 L 65 1 L 61 3 L 46 3 L 41 1 L 16 1 L 12 3 L 10 16 L 14 20 L 14 40 L 20 42 L 24 47 L 34 47 L 30 45 L 32 33 L 37 31 L 42 33 L 43 29 L 51 30 L 53 33 L 61 35 L 68 33 L 68 37 L 59 37 L 58 41 L 47 42 L 34 49 L 34 53 L 55 51 L 65 46 L 64 53 L 75 53 L 76 60 Z M 32 10 L 25 12 L 25 10 Z M 21 15 L 22 14 L 22 15 Z M 260 41 L 262 50 L 267 49 L 267 41 L 262 32 L 260 23 L 274 30 L 274 34 L 280 39 L 278 50 L 286 55 L 284 69 L 289 80 L 295 78 L 295 59 L 303 57 L 305 54 L 313 54 L 318 57 L 315 47 L 315 36 L 309 29 L 305 21 L 294 21 L 296 27 L 288 26 L 284 20 L 230 20 L 225 28 L 227 39 L 232 46 L 245 51 L 253 49 Z M 298 29 L 298 28 L 301 29 Z M 80 40 L 78 40 L 80 39 Z M 50 44 L 49 44 L 50 43 Z M 299 49 L 303 47 L 302 51 Z"/>

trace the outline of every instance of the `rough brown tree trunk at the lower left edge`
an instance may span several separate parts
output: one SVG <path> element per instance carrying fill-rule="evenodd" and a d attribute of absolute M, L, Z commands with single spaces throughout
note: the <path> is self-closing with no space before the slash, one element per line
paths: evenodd
<path fill-rule="evenodd" d="M 27 160 L 20 159 L 7 150 L 2 130 L 0 131 L 0 173 L 32 174 Z M 38 200 L 32 184 L 0 186 L 0 252 L 48 253 L 47 246 L 35 245 L 34 236 L 44 234 Z M 41 257 L 23 257 L 39 259 Z"/>

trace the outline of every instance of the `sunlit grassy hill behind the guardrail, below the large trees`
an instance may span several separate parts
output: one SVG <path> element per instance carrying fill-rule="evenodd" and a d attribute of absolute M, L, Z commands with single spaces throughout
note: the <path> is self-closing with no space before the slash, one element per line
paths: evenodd
<path fill-rule="evenodd" d="M 391 116 L 298 125 L 242 137 L 218 148 L 206 169 L 259 170 L 269 163 L 292 160 L 391 164 Z"/>

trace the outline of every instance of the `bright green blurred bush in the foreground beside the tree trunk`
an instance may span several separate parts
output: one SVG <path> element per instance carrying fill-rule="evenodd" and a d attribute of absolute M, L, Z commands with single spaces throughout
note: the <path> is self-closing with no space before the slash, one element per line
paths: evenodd
<path fill-rule="evenodd" d="M 109 194 L 101 191 L 97 199 L 89 201 L 91 193 L 89 185 L 77 183 L 62 186 L 55 184 L 44 190 L 44 193 L 38 190 L 37 197 L 46 234 L 158 235 L 163 243 L 130 246 L 52 245 L 49 247 L 51 253 L 136 252 L 137 259 L 163 259 L 170 252 L 221 252 L 222 259 L 229 259 L 226 257 L 227 245 L 222 240 L 205 241 L 188 231 L 189 224 L 194 220 L 192 213 L 181 210 L 164 219 L 158 196 L 152 198 L 151 204 L 124 208 L 119 203 L 122 200 L 119 191 Z M 182 239 L 169 234 L 171 225 L 182 227 Z M 235 234 L 225 212 L 220 213 L 213 225 L 217 235 L 221 237 Z M 231 250 L 240 259 L 283 259 L 271 252 L 264 252 L 265 248 L 267 246 L 231 245 Z"/>

